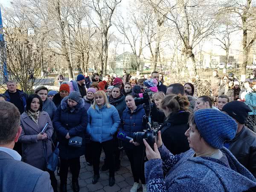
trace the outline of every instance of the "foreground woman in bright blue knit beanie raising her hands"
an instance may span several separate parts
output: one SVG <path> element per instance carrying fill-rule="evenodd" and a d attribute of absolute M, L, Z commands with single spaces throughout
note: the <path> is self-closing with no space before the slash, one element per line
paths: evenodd
<path fill-rule="evenodd" d="M 154 150 L 146 146 L 145 177 L 148 191 L 241 192 L 256 186 L 255 177 L 223 147 L 236 135 L 237 124 L 215 109 L 201 109 L 189 116 L 185 135 L 189 151 L 173 155 L 160 131 Z M 164 175 L 166 175 L 164 177 Z"/>

